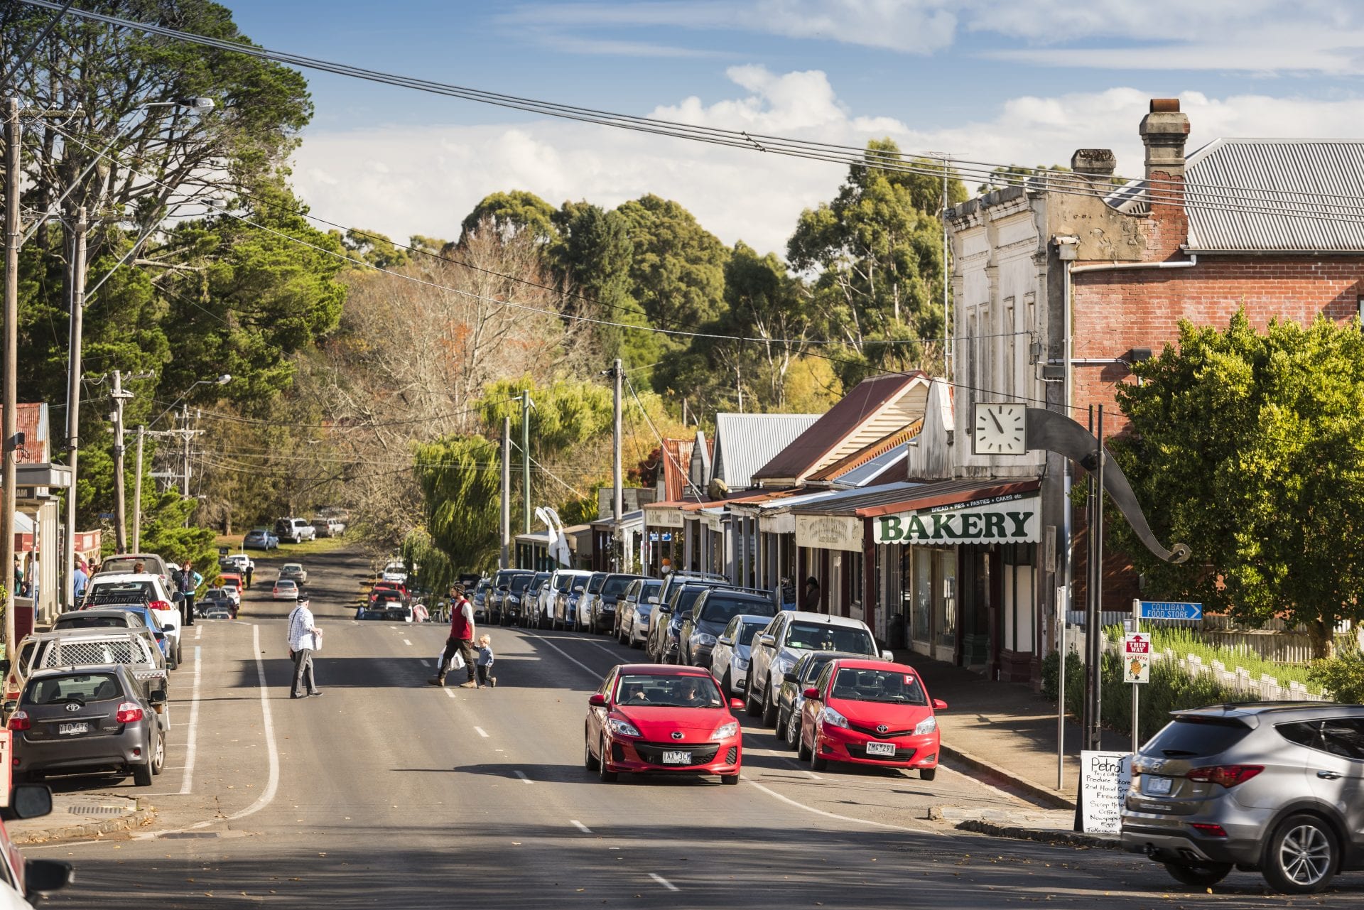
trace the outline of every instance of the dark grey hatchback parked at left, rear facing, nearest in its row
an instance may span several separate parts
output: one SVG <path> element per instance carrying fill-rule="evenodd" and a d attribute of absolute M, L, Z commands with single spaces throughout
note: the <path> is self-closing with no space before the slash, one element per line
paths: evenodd
<path fill-rule="evenodd" d="M 165 765 L 165 701 L 124 664 L 34 671 L 10 715 L 14 779 L 115 772 L 150 787 Z"/>

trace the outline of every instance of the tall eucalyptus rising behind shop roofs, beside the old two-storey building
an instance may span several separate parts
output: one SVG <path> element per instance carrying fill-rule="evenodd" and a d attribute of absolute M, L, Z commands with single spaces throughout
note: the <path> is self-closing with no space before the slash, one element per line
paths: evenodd
<path fill-rule="evenodd" d="M 900 160 L 889 139 L 868 143 L 869 162 Z M 925 168 L 936 162 L 915 158 Z M 966 199 L 948 181 L 948 206 Z M 812 303 L 846 386 L 887 368 L 933 366 L 941 351 L 919 340 L 943 333 L 943 180 L 855 164 L 832 202 L 801 213 L 787 244 L 798 273 L 814 273 Z"/>

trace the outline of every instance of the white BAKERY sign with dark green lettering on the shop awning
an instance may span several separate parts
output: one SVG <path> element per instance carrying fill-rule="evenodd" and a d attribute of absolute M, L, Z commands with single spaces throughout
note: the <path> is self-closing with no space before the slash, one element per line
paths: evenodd
<path fill-rule="evenodd" d="M 1037 543 L 1041 497 L 1013 493 L 990 499 L 878 516 L 876 543 Z"/>

